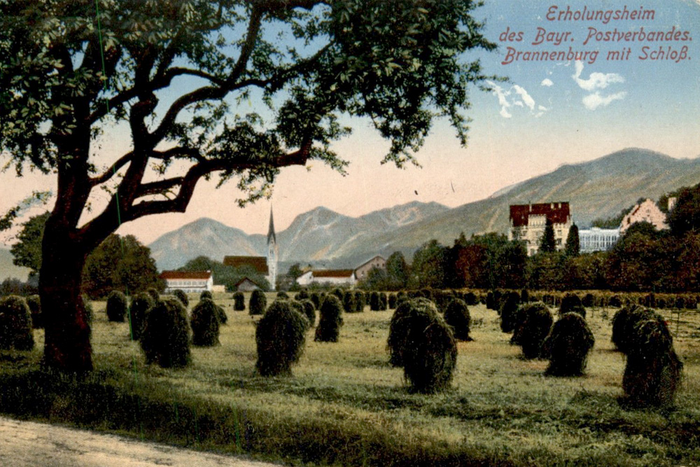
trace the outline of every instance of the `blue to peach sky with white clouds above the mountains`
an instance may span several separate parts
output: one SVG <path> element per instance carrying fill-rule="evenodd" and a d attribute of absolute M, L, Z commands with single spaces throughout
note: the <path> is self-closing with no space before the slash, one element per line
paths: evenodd
<path fill-rule="evenodd" d="M 587 20 L 598 11 L 599 19 Z M 417 153 L 421 168 L 380 165 L 388 144 L 368 121 L 351 118 L 353 134 L 332 146 L 350 162 L 346 176 L 320 162 L 284 168 L 270 200 L 242 209 L 235 183 L 215 189 L 215 182 L 202 181 L 186 213 L 148 216 L 118 233 L 148 244 L 205 216 L 265 233 L 271 207 L 279 231 L 318 206 L 347 216 L 414 200 L 457 207 L 628 147 L 673 158 L 700 155 L 699 1 L 487 0 L 474 15 L 498 50 L 465 60 L 479 58 L 486 74 L 508 81 L 491 81 L 491 92 L 473 88 L 468 146 L 438 120 Z M 548 60 L 534 60 L 533 53 L 547 53 Z M 128 151 L 129 142 L 117 128 L 95 151 L 110 160 Z M 18 179 L 10 169 L 0 174 L 0 212 L 32 190 L 54 186 L 52 176 L 27 172 Z M 105 199 L 96 193 L 94 206 Z M 0 233 L 0 242 L 13 242 L 12 234 Z"/>

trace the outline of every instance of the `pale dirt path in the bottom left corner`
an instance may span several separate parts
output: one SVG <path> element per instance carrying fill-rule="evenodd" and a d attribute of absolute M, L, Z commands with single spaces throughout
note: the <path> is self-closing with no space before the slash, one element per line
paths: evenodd
<path fill-rule="evenodd" d="M 0 466 L 274 467 L 274 464 L 0 417 Z"/>

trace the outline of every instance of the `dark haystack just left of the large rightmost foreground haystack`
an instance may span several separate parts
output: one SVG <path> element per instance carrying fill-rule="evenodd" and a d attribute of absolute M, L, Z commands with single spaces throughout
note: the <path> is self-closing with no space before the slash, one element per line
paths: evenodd
<path fill-rule="evenodd" d="M 578 313 L 561 315 L 542 344 L 542 356 L 549 358 L 547 375 L 579 376 L 586 368 L 595 338 Z"/>

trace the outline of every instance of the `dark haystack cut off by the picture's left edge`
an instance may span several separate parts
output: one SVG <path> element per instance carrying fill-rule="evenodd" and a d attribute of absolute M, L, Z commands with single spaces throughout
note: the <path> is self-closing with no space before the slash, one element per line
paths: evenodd
<path fill-rule="evenodd" d="M 34 349 L 31 311 L 19 295 L 0 298 L 0 349 Z"/>

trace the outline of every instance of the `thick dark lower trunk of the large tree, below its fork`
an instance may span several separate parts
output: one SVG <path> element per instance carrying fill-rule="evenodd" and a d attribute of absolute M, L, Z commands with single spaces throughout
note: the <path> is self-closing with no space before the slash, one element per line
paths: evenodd
<path fill-rule="evenodd" d="M 86 253 L 68 228 L 48 221 L 43 237 L 39 295 L 45 322 L 44 364 L 82 374 L 92 370 L 90 317 L 80 296 Z"/>

